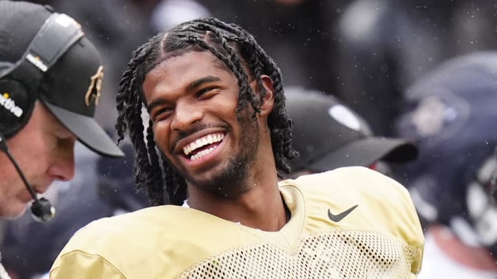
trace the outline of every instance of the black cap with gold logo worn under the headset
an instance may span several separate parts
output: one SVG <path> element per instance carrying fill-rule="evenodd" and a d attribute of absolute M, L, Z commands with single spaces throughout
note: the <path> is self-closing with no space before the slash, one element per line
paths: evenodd
<path fill-rule="evenodd" d="M 0 1 L 0 61 L 19 61 L 52 13 L 48 6 Z M 73 21 L 70 17 L 64 19 Z M 86 37 L 81 37 L 48 68 L 39 88 L 33 91 L 81 143 L 97 154 L 119 157 L 123 152 L 93 118 L 102 77 L 99 52 Z"/>

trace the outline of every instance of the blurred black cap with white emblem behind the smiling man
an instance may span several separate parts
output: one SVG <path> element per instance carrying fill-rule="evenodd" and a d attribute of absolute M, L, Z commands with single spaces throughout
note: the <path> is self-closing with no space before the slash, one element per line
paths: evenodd
<path fill-rule="evenodd" d="M 331 95 L 288 87 L 285 96 L 293 121 L 292 145 L 300 153 L 291 161 L 292 172 L 368 167 L 377 161 L 404 163 L 418 154 L 410 141 L 373 136 L 364 118 Z"/>

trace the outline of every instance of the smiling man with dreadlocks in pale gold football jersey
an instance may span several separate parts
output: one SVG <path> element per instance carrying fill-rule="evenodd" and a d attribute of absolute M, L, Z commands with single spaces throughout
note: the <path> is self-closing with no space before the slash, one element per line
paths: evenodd
<path fill-rule="evenodd" d="M 296 156 L 282 88 L 237 25 L 197 19 L 142 45 L 117 130 L 157 206 L 79 230 L 50 277 L 416 277 L 423 237 L 402 185 L 364 167 L 278 183 Z"/>

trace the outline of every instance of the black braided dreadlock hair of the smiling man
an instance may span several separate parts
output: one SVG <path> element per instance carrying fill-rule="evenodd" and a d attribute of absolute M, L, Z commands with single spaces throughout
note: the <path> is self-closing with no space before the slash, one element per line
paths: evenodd
<path fill-rule="evenodd" d="M 270 56 L 257 44 L 254 37 L 233 23 L 224 23 L 215 18 L 187 21 L 152 37 L 133 52 L 123 72 L 117 94 L 117 134 L 119 141 L 129 130 L 130 139 L 136 151 L 133 165 L 134 179 L 139 189 L 146 189 L 153 205 L 182 205 L 187 198 L 186 182 L 166 160 L 158 154 L 154 140 L 153 123 L 148 121 L 146 143 L 142 120 L 142 104 L 145 98 L 142 84 L 146 74 L 171 56 L 191 51 L 209 51 L 235 74 L 240 87 L 237 116 L 247 104 L 253 107 L 255 115 L 266 94 L 261 75 L 273 80 L 273 111 L 268 116 L 271 144 L 277 168 L 282 178 L 290 172 L 289 160 L 298 153 L 291 147 L 291 121 L 285 110 L 285 97 L 280 69 Z M 259 94 L 249 86 L 249 77 L 257 81 Z"/>

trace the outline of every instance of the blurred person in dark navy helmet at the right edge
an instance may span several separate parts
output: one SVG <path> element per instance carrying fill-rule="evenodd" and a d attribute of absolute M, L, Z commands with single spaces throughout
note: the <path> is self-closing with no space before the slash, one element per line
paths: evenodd
<path fill-rule="evenodd" d="M 393 168 L 425 226 L 419 278 L 496 278 L 497 52 L 474 52 L 413 83 L 396 125 L 419 145 Z"/>

